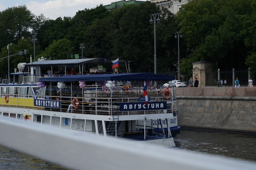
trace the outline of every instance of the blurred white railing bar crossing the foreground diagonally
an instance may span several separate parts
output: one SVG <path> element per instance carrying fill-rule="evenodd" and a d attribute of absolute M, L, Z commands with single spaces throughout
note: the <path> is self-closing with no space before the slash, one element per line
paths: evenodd
<path fill-rule="evenodd" d="M 0 118 L 0 144 L 71 169 L 255 170 L 256 163 Z"/>

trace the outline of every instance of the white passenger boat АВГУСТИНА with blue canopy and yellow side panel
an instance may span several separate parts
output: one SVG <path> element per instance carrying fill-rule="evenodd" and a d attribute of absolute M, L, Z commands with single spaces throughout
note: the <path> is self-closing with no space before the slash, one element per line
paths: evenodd
<path fill-rule="evenodd" d="M 24 63 L 29 66 L 26 73 L 13 73 L 19 76 L 21 84 L 0 84 L 0 118 L 8 116 L 104 137 L 175 146 L 173 137 L 180 131 L 175 88 L 150 90 L 147 86 L 151 81 L 162 84 L 174 80 L 174 76 L 150 73 L 36 76 L 42 75 L 42 64 L 51 62 Z M 63 65 L 56 62 L 59 64 L 56 67 L 66 70 L 68 60 L 62 62 Z M 120 89 L 125 84 L 132 86 L 130 91 Z"/>

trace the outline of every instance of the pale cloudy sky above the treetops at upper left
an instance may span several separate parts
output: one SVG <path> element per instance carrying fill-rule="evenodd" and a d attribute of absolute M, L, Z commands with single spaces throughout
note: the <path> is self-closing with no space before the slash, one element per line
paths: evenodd
<path fill-rule="evenodd" d="M 26 5 L 36 16 L 43 14 L 46 18 L 74 17 L 79 10 L 96 8 L 97 5 L 109 5 L 120 0 L 0 0 L 0 11 L 8 7 Z M 140 0 L 146 1 L 146 0 Z"/>

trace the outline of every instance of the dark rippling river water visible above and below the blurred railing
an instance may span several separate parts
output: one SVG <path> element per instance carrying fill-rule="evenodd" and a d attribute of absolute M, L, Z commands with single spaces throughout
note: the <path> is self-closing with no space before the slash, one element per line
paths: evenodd
<path fill-rule="evenodd" d="M 184 152 L 215 154 L 256 162 L 256 136 L 182 129 L 174 141 L 177 149 Z M 61 166 L 1 146 L 0 169 L 66 170 Z"/>

